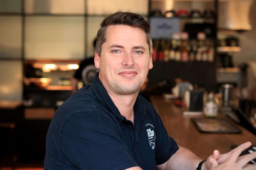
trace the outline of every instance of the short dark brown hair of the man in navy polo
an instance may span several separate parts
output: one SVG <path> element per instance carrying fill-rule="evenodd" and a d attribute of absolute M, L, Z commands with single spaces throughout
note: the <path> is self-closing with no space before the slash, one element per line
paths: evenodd
<path fill-rule="evenodd" d="M 95 47 L 95 51 L 99 56 L 101 55 L 102 44 L 106 41 L 106 31 L 109 25 L 128 25 L 142 29 L 146 33 L 149 54 L 151 56 L 153 53 L 153 45 L 150 34 L 150 23 L 141 15 L 132 12 L 116 12 L 104 18 L 97 33 L 97 43 Z"/>

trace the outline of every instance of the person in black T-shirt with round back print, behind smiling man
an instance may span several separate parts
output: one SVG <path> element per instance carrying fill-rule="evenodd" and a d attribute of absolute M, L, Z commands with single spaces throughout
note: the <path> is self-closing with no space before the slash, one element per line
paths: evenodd
<path fill-rule="evenodd" d="M 94 48 L 96 46 L 96 42 L 97 40 L 95 38 L 93 41 Z M 72 93 L 75 93 L 78 90 L 79 81 L 83 82 L 83 86 L 91 84 L 92 79 L 98 71 L 99 69 L 94 66 L 94 57 L 84 59 L 79 64 L 79 68 L 76 70 L 74 76 L 70 79 Z"/>

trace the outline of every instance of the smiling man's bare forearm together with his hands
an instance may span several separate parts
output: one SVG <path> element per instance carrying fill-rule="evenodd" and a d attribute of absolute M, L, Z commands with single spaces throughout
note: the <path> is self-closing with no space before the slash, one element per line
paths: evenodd
<path fill-rule="evenodd" d="M 256 152 L 246 156 L 239 156 L 242 151 L 249 148 L 251 145 L 250 142 L 246 142 L 230 152 L 221 155 L 219 151 L 214 150 L 214 154 L 208 157 L 201 169 L 235 170 L 241 167 L 247 167 L 248 170 L 255 169 L 255 165 L 246 165 L 246 163 L 256 158 Z M 200 161 L 202 161 L 202 159 L 198 158 L 190 150 L 179 146 L 179 150 L 173 154 L 167 162 L 158 165 L 157 168 L 161 170 L 196 169 Z"/>

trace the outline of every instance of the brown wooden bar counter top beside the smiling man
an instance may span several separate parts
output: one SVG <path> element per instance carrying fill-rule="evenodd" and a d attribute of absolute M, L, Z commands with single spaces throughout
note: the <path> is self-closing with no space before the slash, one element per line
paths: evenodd
<path fill-rule="evenodd" d="M 232 150 L 231 145 L 239 145 L 247 141 L 256 145 L 256 135 L 228 118 L 229 122 L 241 129 L 240 134 L 199 132 L 191 118 L 203 116 L 183 116 L 182 108 L 176 107 L 173 99 L 165 99 L 161 95 L 150 96 L 150 101 L 161 116 L 169 136 L 176 140 L 178 145 L 188 148 L 202 159 L 208 158 L 215 149 L 220 153 L 227 153 Z M 221 114 L 218 116 L 224 117 Z"/>

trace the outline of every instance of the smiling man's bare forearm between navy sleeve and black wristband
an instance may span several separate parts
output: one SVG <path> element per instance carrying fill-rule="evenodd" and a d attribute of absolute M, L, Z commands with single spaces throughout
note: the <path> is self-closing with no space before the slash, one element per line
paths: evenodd
<path fill-rule="evenodd" d="M 173 154 L 167 162 L 157 165 L 157 169 L 196 169 L 201 161 L 202 159 L 197 157 L 190 150 L 179 146 L 177 152 Z"/>

